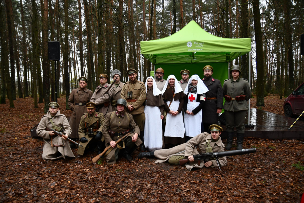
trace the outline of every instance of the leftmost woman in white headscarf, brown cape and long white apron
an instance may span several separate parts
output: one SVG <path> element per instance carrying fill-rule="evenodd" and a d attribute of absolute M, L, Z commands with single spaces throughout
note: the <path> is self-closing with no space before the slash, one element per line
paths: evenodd
<path fill-rule="evenodd" d="M 146 149 L 151 152 L 162 149 L 164 146 L 161 123 L 164 118 L 164 100 L 153 77 L 148 77 L 145 85 L 146 101 L 144 102 L 144 112 L 146 121 L 143 142 Z"/>

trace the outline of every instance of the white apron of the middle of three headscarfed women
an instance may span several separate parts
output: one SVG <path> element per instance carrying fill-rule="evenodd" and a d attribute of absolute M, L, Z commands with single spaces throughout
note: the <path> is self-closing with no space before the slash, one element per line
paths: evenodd
<path fill-rule="evenodd" d="M 167 101 L 169 106 L 171 101 Z M 179 106 L 179 100 L 172 101 L 170 105 L 170 110 L 177 111 Z M 177 116 L 172 116 L 167 113 L 166 128 L 165 128 L 165 137 L 176 137 L 184 138 L 185 135 L 185 126 L 183 122 L 183 114 L 177 114 Z"/>

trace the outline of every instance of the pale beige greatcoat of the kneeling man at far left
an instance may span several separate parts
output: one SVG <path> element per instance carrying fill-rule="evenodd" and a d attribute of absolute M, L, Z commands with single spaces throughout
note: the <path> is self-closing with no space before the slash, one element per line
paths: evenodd
<path fill-rule="evenodd" d="M 47 112 L 41 118 L 41 121 L 37 127 L 37 135 L 43 138 L 44 146 L 42 152 L 42 159 L 43 160 L 55 160 L 60 159 L 61 157 L 65 159 L 64 156 L 75 157 L 69 143 L 65 144 L 63 147 L 52 147 L 51 146 L 51 136 L 49 135 L 50 131 L 47 131 L 46 128 L 49 130 L 52 128 L 53 124 L 51 124 L 50 119 L 52 119 L 54 125 L 58 127 L 63 127 L 63 131 L 61 131 L 66 136 L 71 135 L 71 127 L 65 115 L 60 114 L 60 110 L 58 110 L 57 114 L 52 118 L 50 111 Z M 66 140 L 62 139 L 60 136 L 55 137 L 53 136 L 52 143 L 53 145 L 62 145 Z M 60 152 L 61 155 L 57 156 L 57 153 Z"/>

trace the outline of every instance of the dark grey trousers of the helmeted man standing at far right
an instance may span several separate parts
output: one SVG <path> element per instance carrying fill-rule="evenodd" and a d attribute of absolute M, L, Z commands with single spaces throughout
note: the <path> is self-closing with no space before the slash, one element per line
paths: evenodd
<path fill-rule="evenodd" d="M 245 133 L 244 121 L 246 112 L 247 110 L 236 112 L 225 110 L 227 132 L 233 132 L 235 127 L 238 133 Z"/>

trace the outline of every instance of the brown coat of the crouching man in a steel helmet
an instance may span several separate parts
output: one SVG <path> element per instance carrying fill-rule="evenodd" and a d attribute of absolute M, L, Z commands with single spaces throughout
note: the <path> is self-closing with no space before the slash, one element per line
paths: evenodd
<path fill-rule="evenodd" d="M 114 115 L 112 116 L 112 114 L 114 114 Z M 109 146 L 109 142 L 116 141 L 117 139 L 119 139 L 118 136 L 113 136 L 111 138 L 111 136 L 109 135 L 108 130 L 112 130 L 116 133 L 119 133 L 119 132 L 121 133 L 121 132 L 129 130 L 129 129 L 130 129 L 130 131 L 135 129 L 134 133 L 138 134 L 138 138 L 135 142 L 136 146 L 139 146 L 141 143 L 143 143 L 140 140 L 139 128 L 136 125 L 136 123 L 134 122 L 133 117 L 132 117 L 131 114 L 128 114 L 126 112 L 122 115 L 117 114 L 116 112 L 108 113 L 106 118 L 105 118 L 105 122 L 104 122 L 103 128 L 102 128 L 102 135 L 103 135 L 103 138 L 105 139 L 106 147 Z M 131 133 L 130 135 L 128 135 L 128 137 L 132 138 L 134 133 Z M 116 158 L 115 158 L 115 151 L 116 150 L 118 150 L 117 146 L 105 157 L 108 164 L 116 163 Z"/>

